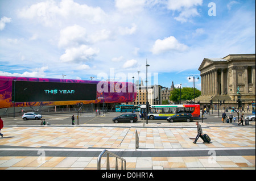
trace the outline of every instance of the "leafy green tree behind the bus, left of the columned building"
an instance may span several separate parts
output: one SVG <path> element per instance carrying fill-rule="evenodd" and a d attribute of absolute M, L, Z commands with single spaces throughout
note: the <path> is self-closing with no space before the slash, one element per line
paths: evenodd
<path fill-rule="evenodd" d="M 195 98 L 201 95 L 201 91 L 195 88 Z M 181 100 L 193 100 L 194 99 L 194 88 L 183 87 L 181 89 Z M 174 89 L 171 91 L 170 100 L 178 103 L 180 101 L 180 89 Z"/>

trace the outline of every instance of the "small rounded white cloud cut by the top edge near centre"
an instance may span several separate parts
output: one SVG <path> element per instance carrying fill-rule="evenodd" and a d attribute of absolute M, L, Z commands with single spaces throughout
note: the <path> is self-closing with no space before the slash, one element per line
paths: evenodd
<path fill-rule="evenodd" d="M 136 13 L 143 10 L 145 0 L 115 0 L 115 7 L 124 13 Z"/>

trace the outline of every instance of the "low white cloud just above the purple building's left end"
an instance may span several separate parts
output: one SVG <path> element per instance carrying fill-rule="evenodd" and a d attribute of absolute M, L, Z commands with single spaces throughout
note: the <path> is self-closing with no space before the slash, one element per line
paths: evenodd
<path fill-rule="evenodd" d="M 48 69 L 48 66 L 44 66 L 42 68 L 34 69 L 32 72 L 25 71 L 24 73 L 8 73 L 5 71 L 0 71 L 0 75 L 3 76 L 14 76 L 14 77 L 46 77 L 46 71 Z"/>

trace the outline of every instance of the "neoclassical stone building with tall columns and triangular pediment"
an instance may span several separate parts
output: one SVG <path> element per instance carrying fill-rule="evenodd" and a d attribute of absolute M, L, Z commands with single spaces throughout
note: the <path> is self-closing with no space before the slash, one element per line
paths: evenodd
<path fill-rule="evenodd" d="M 244 104 L 255 101 L 255 54 L 204 58 L 199 71 L 202 94 L 197 101 L 207 103 L 212 99 L 235 103 L 239 96 Z"/>

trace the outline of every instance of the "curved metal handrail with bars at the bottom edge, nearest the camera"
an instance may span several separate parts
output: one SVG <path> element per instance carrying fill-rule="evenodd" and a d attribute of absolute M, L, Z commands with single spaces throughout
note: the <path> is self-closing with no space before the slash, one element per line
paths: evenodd
<path fill-rule="evenodd" d="M 104 156 L 104 154 L 107 154 L 107 167 L 106 169 L 107 170 L 110 170 L 110 163 L 109 163 L 109 155 L 112 155 L 112 157 L 115 157 L 115 170 L 118 170 L 118 162 L 117 162 L 117 159 L 121 159 L 122 161 L 122 166 L 121 166 L 121 169 L 123 170 L 123 162 L 125 162 L 125 170 L 126 170 L 126 160 L 119 157 L 118 155 L 114 154 L 114 153 L 111 153 L 110 151 L 108 150 L 103 150 L 101 152 L 101 154 L 98 156 L 98 161 L 97 161 L 97 169 L 98 170 L 101 170 L 101 158 Z"/>

